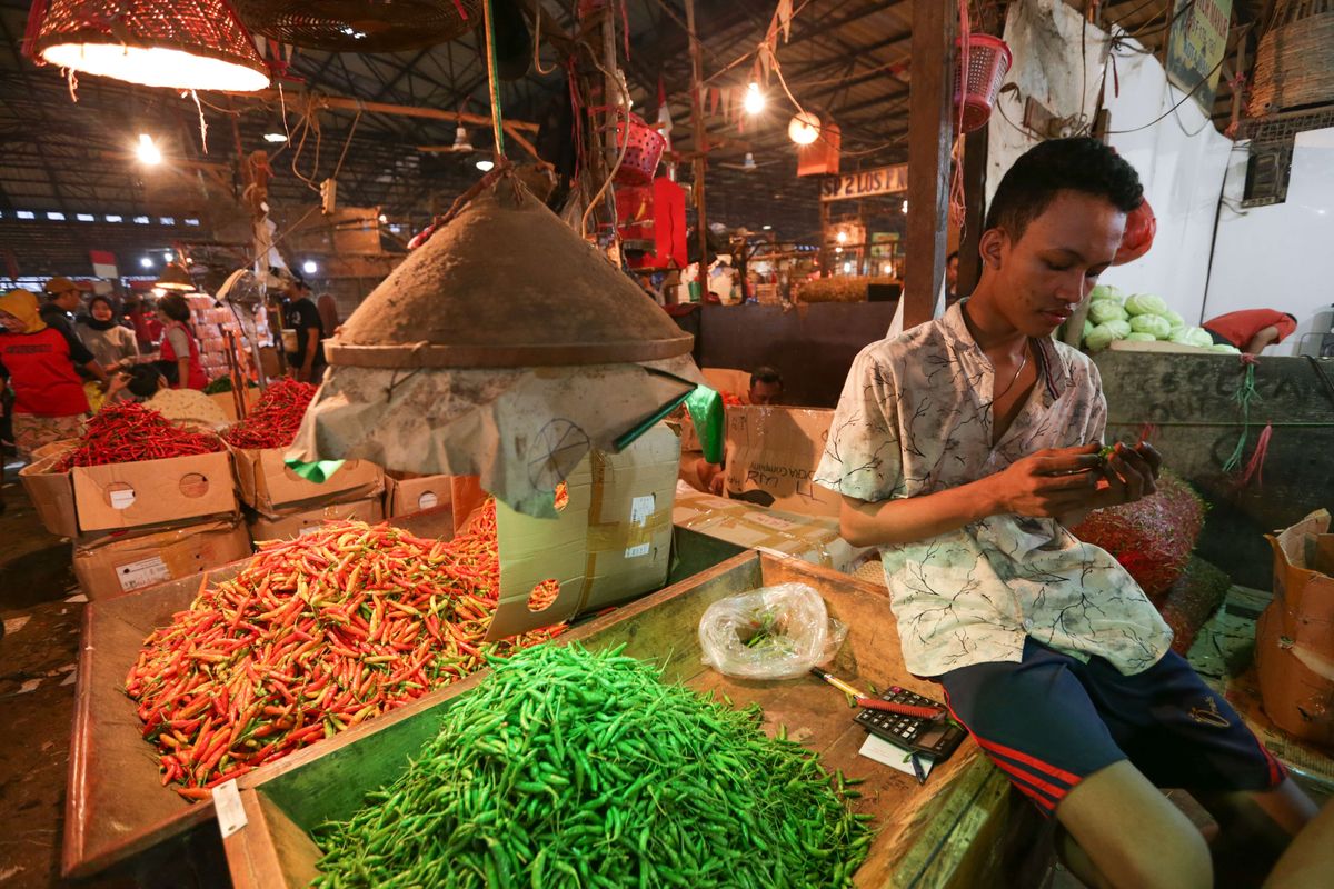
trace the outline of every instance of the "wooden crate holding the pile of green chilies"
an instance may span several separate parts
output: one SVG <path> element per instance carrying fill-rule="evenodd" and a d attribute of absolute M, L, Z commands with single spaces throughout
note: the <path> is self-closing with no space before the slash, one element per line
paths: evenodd
<path fill-rule="evenodd" d="M 972 886 L 987 882 L 988 850 L 1006 821 L 1007 785 L 971 740 L 931 773 L 926 785 L 858 754 L 866 737 L 843 694 L 812 677 L 782 682 L 734 681 L 700 662 L 696 634 L 704 609 L 724 596 L 786 581 L 820 590 L 848 628 L 835 672 L 866 686 L 898 682 L 939 697 L 931 682 L 903 666 L 883 586 L 866 584 L 796 558 L 746 552 L 684 582 L 642 598 L 562 636 L 602 649 L 666 664 L 664 678 L 699 692 L 726 693 L 738 706 L 758 702 L 766 730 L 786 725 L 788 737 L 818 750 L 826 768 L 866 778 L 856 809 L 876 816 L 878 838 L 858 872 L 862 886 Z M 319 850 L 309 830 L 347 818 L 367 792 L 394 781 L 410 757 L 439 730 L 454 701 L 484 674 L 458 682 L 391 716 L 350 729 L 328 744 L 300 750 L 272 769 L 240 781 L 247 826 L 224 841 L 237 889 L 308 885 Z"/>

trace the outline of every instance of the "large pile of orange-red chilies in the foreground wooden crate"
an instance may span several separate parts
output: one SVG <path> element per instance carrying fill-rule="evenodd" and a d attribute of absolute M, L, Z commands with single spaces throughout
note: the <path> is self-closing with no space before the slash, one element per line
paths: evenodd
<path fill-rule="evenodd" d="M 494 504 L 447 544 L 364 522 L 265 544 L 155 630 L 125 678 L 163 784 L 205 798 L 221 781 L 482 668 L 499 570 Z"/>

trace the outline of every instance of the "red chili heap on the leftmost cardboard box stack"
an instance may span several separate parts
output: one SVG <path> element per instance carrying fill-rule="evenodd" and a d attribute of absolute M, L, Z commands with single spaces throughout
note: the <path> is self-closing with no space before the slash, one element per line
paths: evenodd
<path fill-rule="evenodd" d="M 223 443 L 213 433 L 176 425 L 152 408 L 141 404 L 109 404 L 88 421 L 79 446 L 57 462 L 57 470 L 187 457 L 221 449 Z"/>

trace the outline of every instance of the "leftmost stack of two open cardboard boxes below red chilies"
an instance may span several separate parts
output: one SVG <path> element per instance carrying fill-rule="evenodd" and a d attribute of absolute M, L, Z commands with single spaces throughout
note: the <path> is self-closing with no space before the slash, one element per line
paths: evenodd
<path fill-rule="evenodd" d="M 231 454 L 73 466 L 63 449 L 19 473 L 37 517 L 68 537 L 88 598 L 108 598 L 244 557 Z"/>

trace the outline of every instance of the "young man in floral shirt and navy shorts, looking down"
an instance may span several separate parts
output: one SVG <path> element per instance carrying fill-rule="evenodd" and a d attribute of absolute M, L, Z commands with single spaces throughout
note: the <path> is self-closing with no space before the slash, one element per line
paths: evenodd
<path fill-rule="evenodd" d="M 1155 785 L 1191 789 L 1218 849 L 1261 873 L 1313 806 L 1170 650 L 1135 581 L 1066 530 L 1158 474 L 1147 444 L 1099 456 L 1098 369 L 1051 339 L 1142 199 L 1094 139 L 1021 157 L 972 297 L 862 351 L 815 480 L 843 494 L 843 536 L 880 546 L 907 668 L 1058 818 L 1071 868 L 1094 885 L 1210 886 L 1205 840 Z"/>

